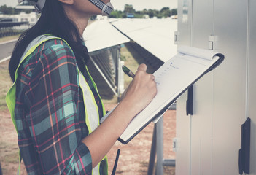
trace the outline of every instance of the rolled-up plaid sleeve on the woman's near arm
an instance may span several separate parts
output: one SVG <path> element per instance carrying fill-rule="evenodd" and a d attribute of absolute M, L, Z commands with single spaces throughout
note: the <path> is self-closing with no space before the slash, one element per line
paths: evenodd
<path fill-rule="evenodd" d="M 74 53 L 53 44 L 36 63 L 26 98 L 26 123 L 44 174 L 90 174 L 90 151 L 82 144 Z"/>

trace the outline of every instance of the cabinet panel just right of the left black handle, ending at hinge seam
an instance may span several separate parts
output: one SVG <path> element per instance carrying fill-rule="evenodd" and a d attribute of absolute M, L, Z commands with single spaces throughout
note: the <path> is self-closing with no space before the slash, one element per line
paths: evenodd
<path fill-rule="evenodd" d="M 213 0 L 193 1 L 192 46 L 209 48 L 213 31 Z M 212 87 L 213 72 L 194 85 L 193 116 L 191 120 L 191 174 L 212 172 Z"/>

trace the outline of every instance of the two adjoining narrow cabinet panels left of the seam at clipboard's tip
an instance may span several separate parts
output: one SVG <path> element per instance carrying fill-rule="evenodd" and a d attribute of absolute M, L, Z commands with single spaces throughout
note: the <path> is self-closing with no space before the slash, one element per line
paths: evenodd
<path fill-rule="evenodd" d="M 209 36 L 214 33 L 213 9 L 212 0 L 179 1 L 179 44 L 208 49 Z M 212 171 L 212 87 L 213 72 L 194 85 L 193 116 L 186 115 L 187 93 L 177 101 L 176 174 Z"/>

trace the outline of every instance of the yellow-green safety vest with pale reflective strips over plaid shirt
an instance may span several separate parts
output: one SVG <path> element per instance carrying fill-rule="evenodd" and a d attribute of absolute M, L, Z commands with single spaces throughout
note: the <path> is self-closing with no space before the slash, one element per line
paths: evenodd
<path fill-rule="evenodd" d="M 17 130 L 17 125 L 16 125 L 16 121 L 15 121 L 15 103 L 16 103 L 16 81 L 17 81 L 17 77 L 18 77 L 18 69 L 19 69 L 21 63 L 23 63 L 23 61 L 25 61 L 26 58 L 28 58 L 28 55 L 31 55 L 31 53 L 34 52 L 34 50 L 36 50 L 36 47 L 39 47 L 40 44 L 42 44 L 43 42 L 47 42 L 50 39 L 61 39 L 61 38 L 58 38 L 55 36 L 50 36 L 50 35 L 42 35 L 42 36 L 38 36 L 36 39 L 34 39 L 28 45 L 23 56 L 21 57 L 19 65 L 15 71 L 15 82 L 13 83 L 12 87 L 9 89 L 9 91 L 7 93 L 7 96 L 6 96 L 7 106 L 8 106 L 9 112 L 12 117 L 12 123 L 15 125 L 15 129 L 17 132 L 18 132 L 18 130 Z M 63 40 L 63 42 L 65 42 L 69 46 L 69 44 L 64 39 L 61 39 L 61 40 Z M 71 49 L 70 46 L 69 46 L 69 48 Z M 83 94 L 83 99 L 84 99 L 85 123 L 88 127 L 88 131 L 90 134 L 99 125 L 98 106 L 96 104 L 93 92 L 90 90 L 88 83 L 85 81 L 85 77 L 79 71 L 78 66 L 77 66 L 77 70 L 79 72 L 79 87 L 82 89 L 82 94 Z M 96 89 L 96 91 L 98 93 L 97 86 L 96 86 L 95 82 L 93 81 L 93 78 L 90 76 L 87 66 L 86 66 L 86 71 L 90 77 L 91 82 L 93 82 L 94 88 Z M 101 100 L 101 98 L 100 98 L 100 100 Z M 103 114 L 105 115 L 106 112 L 105 112 L 104 105 L 103 105 L 102 101 L 101 101 L 101 104 L 102 104 Z M 95 117 L 95 116 L 98 116 L 98 117 Z M 20 150 L 19 150 L 19 155 L 20 155 Z M 19 158 L 19 160 L 20 160 L 20 158 Z M 106 156 L 102 160 L 106 161 L 106 165 L 103 168 L 104 174 L 108 174 L 108 170 L 107 170 L 108 163 L 107 163 Z M 99 174 L 100 166 L 101 166 L 101 163 L 98 163 L 98 165 L 95 168 L 93 168 L 93 171 L 92 171 L 93 175 Z M 19 161 L 19 167 L 18 167 L 17 174 L 20 174 L 20 161 Z"/>

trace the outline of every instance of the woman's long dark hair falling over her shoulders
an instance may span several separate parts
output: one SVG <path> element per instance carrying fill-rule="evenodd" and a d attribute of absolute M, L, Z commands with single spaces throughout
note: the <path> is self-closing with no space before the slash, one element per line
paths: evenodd
<path fill-rule="evenodd" d="M 47 0 L 37 23 L 21 34 L 9 61 L 9 74 L 15 80 L 15 71 L 28 44 L 37 36 L 51 34 L 64 39 L 74 52 L 79 70 L 85 71 L 85 64 L 89 60 L 88 50 L 82 44 L 82 38 L 77 26 L 69 20 L 60 1 Z"/>

